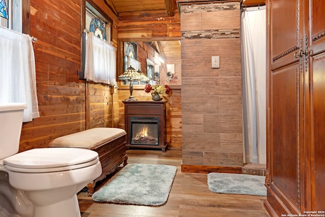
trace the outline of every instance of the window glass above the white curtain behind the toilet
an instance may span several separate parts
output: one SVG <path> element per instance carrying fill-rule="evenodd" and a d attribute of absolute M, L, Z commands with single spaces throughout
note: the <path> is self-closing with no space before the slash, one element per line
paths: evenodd
<path fill-rule="evenodd" d="M 5 13 L 7 6 L 8 17 L 0 15 L 0 26 L 10 28 L 22 33 L 22 1 L 21 0 L 0 0 L 0 14 Z"/>

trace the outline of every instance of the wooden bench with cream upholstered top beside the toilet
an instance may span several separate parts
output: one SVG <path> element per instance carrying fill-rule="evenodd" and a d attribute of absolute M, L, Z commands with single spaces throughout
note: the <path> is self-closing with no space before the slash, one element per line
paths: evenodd
<path fill-rule="evenodd" d="M 102 164 L 102 174 L 87 185 L 88 195 L 93 194 L 95 185 L 123 163 L 127 164 L 126 132 L 119 128 L 92 128 L 58 137 L 49 147 L 73 147 L 89 149 L 98 153 Z"/>

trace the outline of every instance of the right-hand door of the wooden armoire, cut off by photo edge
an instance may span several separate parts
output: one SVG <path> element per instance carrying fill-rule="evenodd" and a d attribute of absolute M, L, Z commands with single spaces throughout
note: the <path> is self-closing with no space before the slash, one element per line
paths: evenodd
<path fill-rule="evenodd" d="M 325 1 L 310 0 L 309 4 L 311 170 L 306 202 L 309 210 L 325 210 Z"/>

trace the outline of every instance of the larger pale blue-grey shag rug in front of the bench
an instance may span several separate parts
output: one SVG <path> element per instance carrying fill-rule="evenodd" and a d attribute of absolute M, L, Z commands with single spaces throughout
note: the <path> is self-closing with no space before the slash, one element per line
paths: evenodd
<path fill-rule="evenodd" d="M 169 165 L 127 164 L 93 193 L 92 200 L 157 206 L 167 202 L 177 168 Z"/>

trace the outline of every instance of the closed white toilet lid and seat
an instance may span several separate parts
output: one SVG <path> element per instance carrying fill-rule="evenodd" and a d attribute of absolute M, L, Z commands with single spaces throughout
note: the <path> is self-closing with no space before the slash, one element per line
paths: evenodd
<path fill-rule="evenodd" d="M 40 148 L 5 158 L 3 163 L 12 171 L 40 172 L 85 167 L 84 164 L 89 164 L 88 162 L 98 162 L 98 153 L 79 148 Z"/>

